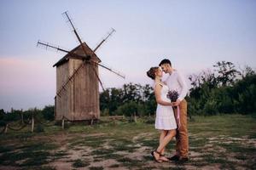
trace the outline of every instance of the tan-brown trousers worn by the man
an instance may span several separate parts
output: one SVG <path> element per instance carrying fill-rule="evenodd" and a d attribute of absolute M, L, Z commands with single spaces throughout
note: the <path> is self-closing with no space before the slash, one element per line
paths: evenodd
<path fill-rule="evenodd" d="M 189 155 L 189 135 L 187 123 L 187 101 L 183 99 L 179 106 L 181 127 L 176 134 L 176 152 L 178 156 L 188 157 Z M 175 109 L 175 113 L 176 113 Z"/>

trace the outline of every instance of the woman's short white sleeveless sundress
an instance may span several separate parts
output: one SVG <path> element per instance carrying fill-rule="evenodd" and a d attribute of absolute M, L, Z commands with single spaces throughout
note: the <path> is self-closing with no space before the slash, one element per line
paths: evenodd
<path fill-rule="evenodd" d="M 166 86 L 165 84 L 160 84 L 160 85 L 162 86 L 160 91 L 161 99 L 166 102 L 171 102 L 171 100 L 168 99 L 166 96 L 169 91 L 168 86 Z M 174 117 L 174 113 L 171 105 L 169 106 L 169 105 L 157 104 L 154 127 L 160 130 L 171 130 L 171 129 L 177 128 L 177 124 L 175 121 L 175 117 Z"/>

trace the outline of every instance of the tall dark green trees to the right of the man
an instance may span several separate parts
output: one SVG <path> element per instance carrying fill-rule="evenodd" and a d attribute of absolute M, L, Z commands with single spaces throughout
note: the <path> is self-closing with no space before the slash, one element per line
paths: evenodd
<path fill-rule="evenodd" d="M 214 115 L 218 113 L 252 114 L 256 111 L 256 74 L 252 68 L 236 70 L 231 62 L 213 65 L 215 72 L 202 71 L 191 75 L 189 113 Z"/>

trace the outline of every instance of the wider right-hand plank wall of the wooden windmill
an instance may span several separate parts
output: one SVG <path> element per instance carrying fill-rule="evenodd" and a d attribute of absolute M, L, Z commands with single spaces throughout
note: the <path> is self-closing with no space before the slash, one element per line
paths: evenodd
<path fill-rule="evenodd" d="M 69 59 L 69 72 L 72 74 L 81 63 L 81 59 Z M 97 65 L 88 63 L 81 68 L 71 82 L 69 111 L 73 121 L 90 120 L 100 116 L 99 84 L 93 67 L 98 73 Z"/>

